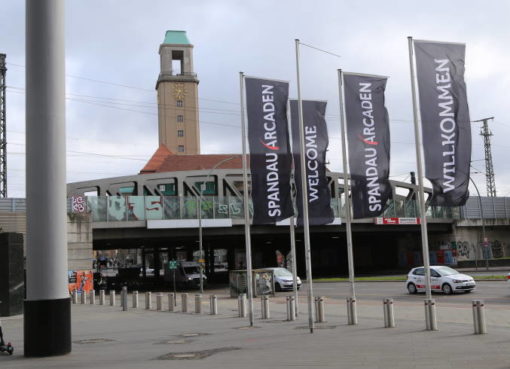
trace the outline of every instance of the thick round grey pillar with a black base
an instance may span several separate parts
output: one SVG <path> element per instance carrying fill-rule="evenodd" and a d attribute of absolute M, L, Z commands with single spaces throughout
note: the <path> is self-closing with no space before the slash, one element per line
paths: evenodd
<path fill-rule="evenodd" d="M 67 288 L 64 0 L 26 0 L 24 355 L 71 352 Z"/>

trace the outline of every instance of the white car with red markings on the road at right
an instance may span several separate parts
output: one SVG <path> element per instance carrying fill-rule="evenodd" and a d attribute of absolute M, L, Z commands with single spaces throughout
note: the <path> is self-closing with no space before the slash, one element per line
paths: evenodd
<path fill-rule="evenodd" d="M 425 291 L 425 269 L 413 268 L 407 275 L 407 291 L 410 294 Z M 456 292 L 471 292 L 476 283 L 473 277 L 461 274 L 447 266 L 434 265 L 430 267 L 430 289 L 432 292 L 443 292 L 450 295 Z"/>

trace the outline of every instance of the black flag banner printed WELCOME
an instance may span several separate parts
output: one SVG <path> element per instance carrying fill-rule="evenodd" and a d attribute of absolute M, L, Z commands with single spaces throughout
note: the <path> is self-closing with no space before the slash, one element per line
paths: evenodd
<path fill-rule="evenodd" d="M 331 223 L 331 192 L 326 177 L 326 150 L 329 144 L 326 125 L 326 102 L 303 100 L 303 129 L 305 137 L 306 183 L 308 217 L 310 225 Z M 298 225 L 303 224 L 303 196 L 301 186 L 301 158 L 299 140 L 298 101 L 290 100 L 292 125 L 292 152 L 294 155 L 294 177 L 297 190 Z"/>

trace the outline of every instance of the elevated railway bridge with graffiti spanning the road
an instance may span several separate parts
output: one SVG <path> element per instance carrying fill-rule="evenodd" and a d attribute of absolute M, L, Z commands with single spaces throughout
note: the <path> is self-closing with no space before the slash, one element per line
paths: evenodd
<path fill-rule="evenodd" d="M 329 172 L 335 221 L 311 227 L 315 275 L 347 273 L 343 175 Z M 372 273 L 421 263 L 416 185 L 391 181 L 393 198 L 378 219 L 353 221 L 356 270 Z M 68 184 L 69 212 L 90 214 L 94 250 L 124 251 L 131 262 L 159 269 L 169 259 L 198 258 L 198 229 L 203 230 L 206 270 L 244 267 L 242 171 L 196 170 L 116 177 Z M 427 202 L 430 189 L 426 189 Z M 486 236 L 497 250 L 480 245 L 479 199 L 461 208 L 427 207 L 431 261 L 507 255 L 510 199 L 483 198 Z M 199 207 L 201 216 L 198 216 Z M 251 204 L 250 204 L 251 207 Z M 253 266 L 276 264 L 289 255 L 289 223 L 253 226 Z M 496 240 L 497 239 L 497 240 Z M 296 228 L 298 271 L 304 271 L 302 229 Z M 122 252 L 121 252 L 122 253 Z"/>

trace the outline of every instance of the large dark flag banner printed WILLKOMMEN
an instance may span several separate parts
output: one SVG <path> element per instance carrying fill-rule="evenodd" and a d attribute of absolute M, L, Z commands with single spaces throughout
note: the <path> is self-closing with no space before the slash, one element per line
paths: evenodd
<path fill-rule="evenodd" d="M 471 125 L 464 83 L 465 49 L 463 44 L 414 41 L 431 205 L 461 206 L 469 197 Z"/>

